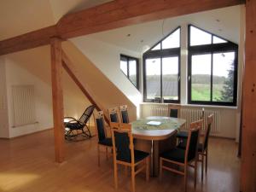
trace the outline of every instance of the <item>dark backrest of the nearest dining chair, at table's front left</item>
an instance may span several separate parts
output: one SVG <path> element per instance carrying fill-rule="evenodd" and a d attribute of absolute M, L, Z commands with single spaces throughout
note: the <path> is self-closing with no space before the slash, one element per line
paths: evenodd
<path fill-rule="evenodd" d="M 134 163 L 133 137 L 131 125 L 110 123 L 113 143 L 113 158 L 128 163 Z"/>

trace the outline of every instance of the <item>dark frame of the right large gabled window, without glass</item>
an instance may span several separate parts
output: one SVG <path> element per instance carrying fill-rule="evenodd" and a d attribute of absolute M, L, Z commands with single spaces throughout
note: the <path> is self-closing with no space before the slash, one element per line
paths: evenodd
<path fill-rule="evenodd" d="M 230 42 L 229 40 L 224 39 L 227 41 L 227 43 L 219 43 L 219 44 L 213 44 L 213 36 L 219 37 L 218 35 L 213 34 L 212 32 L 207 32 L 206 30 L 201 29 L 200 27 L 193 26 L 195 28 L 200 29 L 203 32 L 207 32 L 212 35 L 212 44 L 201 44 L 201 45 L 193 45 L 190 46 L 190 26 L 188 26 L 188 103 L 189 104 L 197 104 L 197 105 L 218 105 L 218 106 L 236 106 L 237 104 L 237 68 L 238 68 L 238 45 Z M 234 90 L 233 90 L 233 102 L 214 102 L 212 101 L 212 68 L 213 68 L 213 54 L 218 53 L 226 53 L 226 52 L 235 52 L 235 58 L 234 58 Z M 210 90 L 210 101 L 192 101 L 191 97 L 191 70 L 192 70 L 192 55 L 205 55 L 210 54 L 211 55 L 211 90 Z"/>

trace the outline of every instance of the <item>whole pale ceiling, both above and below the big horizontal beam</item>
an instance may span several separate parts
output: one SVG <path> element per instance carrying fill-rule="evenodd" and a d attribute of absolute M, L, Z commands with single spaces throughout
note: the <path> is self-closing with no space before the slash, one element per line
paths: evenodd
<path fill-rule="evenodd" d="M 54 25 L 63 15 L 111 0 L 3 0 L 0 2 L 0 40 Z M 194 24 L 232 42 L 239 42 L 238 5 L 166 20 L 156 20 L 89 35 L 108 44 L 142 53 L 177 26 Z M 128 37 L 127 35 L 130 34 Z"/>

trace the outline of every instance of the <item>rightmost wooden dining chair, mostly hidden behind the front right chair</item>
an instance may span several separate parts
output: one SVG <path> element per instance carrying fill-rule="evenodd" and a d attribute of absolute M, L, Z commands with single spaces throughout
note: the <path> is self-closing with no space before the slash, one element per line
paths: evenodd
<path fill-rule="evenodd" d="M 199 160 L 201 161 L 201 180 L 203 180 L 204 177 L 204 157 L 206 157 L 206 173 L 207 173 L 207 166 L 208 166 L 208 141 L 210 136 L 210 131 L 212 127 L 212 121 L 213 121 L 213 114 L 210 114 L 207 117 L 207 126 L 205 130 L 205 134 L 203 137 L 202 143 L 199 143 L 198 145 L 198 155 Z M 200 159 L 201 157 L 201 159 Z"/>

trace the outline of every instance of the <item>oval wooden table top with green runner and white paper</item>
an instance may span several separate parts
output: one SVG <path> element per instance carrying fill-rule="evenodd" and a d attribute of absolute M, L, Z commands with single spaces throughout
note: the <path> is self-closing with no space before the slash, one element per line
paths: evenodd
<path fill-rule="evenodd" d="M 131 122 L 134 138 L 144 140 L 164 140 L 171 137 L 186 122 L 185 119 L 152 116 Z"/>

